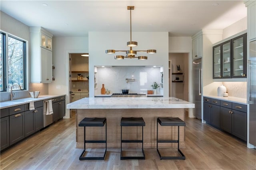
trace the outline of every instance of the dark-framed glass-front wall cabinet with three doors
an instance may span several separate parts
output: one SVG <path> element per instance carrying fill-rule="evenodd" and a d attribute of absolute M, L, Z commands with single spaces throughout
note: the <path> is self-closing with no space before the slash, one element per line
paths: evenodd
<path fill-rule="evenodd" d="M 213 79 L 246 78 L 246 34 L 213 47 Z"/>

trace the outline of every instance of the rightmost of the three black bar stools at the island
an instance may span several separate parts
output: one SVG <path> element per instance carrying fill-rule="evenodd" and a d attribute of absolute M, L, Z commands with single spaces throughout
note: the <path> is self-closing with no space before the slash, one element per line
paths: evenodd
<path fill-rule="evenodd" d="M 161 126 L 177 126 L 178 127 L 178 140 L 158 140 L 158 123 Z M 160 159 L 182 159 L 185 160 L 186 157 L 180 151 L 180 126 L 186 126 L 186 123 L 178 117 L 158 117 L 157 118 L 157 130 L 156 130 L 156 150 L 160 156 Z M 158 143 L 178 143 L 178 152 L 181 156 L 161 156 L 158 150 Z"/>

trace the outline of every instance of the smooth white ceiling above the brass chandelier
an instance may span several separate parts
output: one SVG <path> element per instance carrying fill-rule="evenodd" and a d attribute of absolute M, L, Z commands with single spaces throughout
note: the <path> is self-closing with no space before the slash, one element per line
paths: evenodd
<path fill-rule="evenodd" d="M 47 4 L 47 5 L 44 5 Z M 243 0 L 1 0 L 2 12 L 27 26 L 42 26 L 54 36 L 88 32 L 169 32 L 192 36 L 223 29 L 246 17 Z"/>

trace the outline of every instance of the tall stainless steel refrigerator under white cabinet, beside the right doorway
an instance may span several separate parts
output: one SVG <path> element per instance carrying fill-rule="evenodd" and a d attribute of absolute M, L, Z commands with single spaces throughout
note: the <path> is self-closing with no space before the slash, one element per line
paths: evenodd
<path fill-rule="evenodd" d="M 195 108 L 193 114 L 196 118 L 202 119 L 202 58 L 193 60 L 193 102 Z"/>

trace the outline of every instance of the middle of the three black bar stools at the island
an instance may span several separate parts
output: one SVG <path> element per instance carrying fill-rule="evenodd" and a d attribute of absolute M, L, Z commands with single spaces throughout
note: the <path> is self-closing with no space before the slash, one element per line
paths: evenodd
<path fill-rule="evenodd" d="M 122 140 L 122 127 L 142 127 L 142 140 Z M 145 122 L 142 117 L 122 117 L 121 119 L 121 155 L 120 160 L 124 159 L 145 159 L 145 154 L 143 150 L 143 127 L 145 126 Z M 133 142 L 133 143 L 142 143 L 142 153 L 143 156 L 122 156 L 122 142 Z"/>

